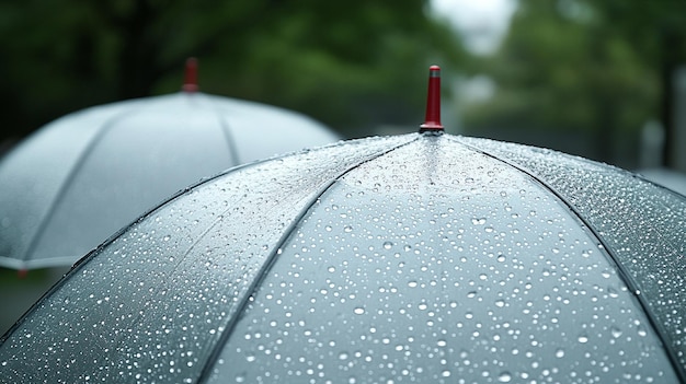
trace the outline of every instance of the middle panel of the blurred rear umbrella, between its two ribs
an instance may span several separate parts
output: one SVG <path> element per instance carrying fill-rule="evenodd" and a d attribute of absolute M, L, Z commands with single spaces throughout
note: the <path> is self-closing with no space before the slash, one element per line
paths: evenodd
<path fill-rule="evenodd" d="M 232 159 L 214 120 L 211 115 L 187 113 L 138 113 L 119 118 L 117 128 L 103 130 L 72 171 L 31 253 L 46 259 L 68 258 L 78 247 L 84 255 L 112 234 L 112 222 L 123 226 L 151 202 L 158 205 L 167 198 L 161 190 L 171 195 L 197 183 L 198 170 L 228 168 Z M 161 170 L 173 175 L 160 174 Z M 100 241 L 94 243 L 94 238 Z"/>

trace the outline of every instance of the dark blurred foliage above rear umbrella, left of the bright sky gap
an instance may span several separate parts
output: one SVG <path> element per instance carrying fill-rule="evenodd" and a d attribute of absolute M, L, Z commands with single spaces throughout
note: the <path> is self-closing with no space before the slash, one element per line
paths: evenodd
<path fill-rule="evenodd" d="M 203 91 L 294 108 L 348 136 L 366 136 L 378 121 L 414 123 L 430 59 L 458 66 L 465 57 L 426 7 L 426 0 L 4 1 L 3 136 L 23 136 L 87 106 L 175 92 L 190 56 L 199 60 Z"/>

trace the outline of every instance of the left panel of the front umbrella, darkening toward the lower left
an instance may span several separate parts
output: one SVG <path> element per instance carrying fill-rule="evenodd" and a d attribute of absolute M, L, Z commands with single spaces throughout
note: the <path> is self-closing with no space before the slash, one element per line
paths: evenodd
<path fill-rule="evenodd" d="M 286 228 L 319 189 L 400 137 L 208 181 L 85 257 L 0 345 L 10 382 L 193 381 Z M 250 223 L 250 224 L 247 224 Z M 141 375 L 141 372 L 147 374 Z"/>

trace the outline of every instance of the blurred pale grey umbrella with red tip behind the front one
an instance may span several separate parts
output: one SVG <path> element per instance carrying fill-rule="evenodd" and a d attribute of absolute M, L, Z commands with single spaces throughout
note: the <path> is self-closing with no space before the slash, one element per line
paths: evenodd
<path fill-rule="evenodd" d="M 71 265 L 202 177 L 339 140 L 304 115 L 196 90 L 190 60 L 183 92 L 67 115 L 9 153 L 0 162 L 0 265 Z"/>

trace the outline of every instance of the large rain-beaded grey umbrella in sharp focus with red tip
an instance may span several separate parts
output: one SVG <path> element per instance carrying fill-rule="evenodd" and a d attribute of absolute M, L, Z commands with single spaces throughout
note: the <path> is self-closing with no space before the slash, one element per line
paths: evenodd
<path fill-rule="evenodd" d="M 160 205 L 3 337 L 4 380 L 683 381 L 684 197 L 438 113 Z"/>

